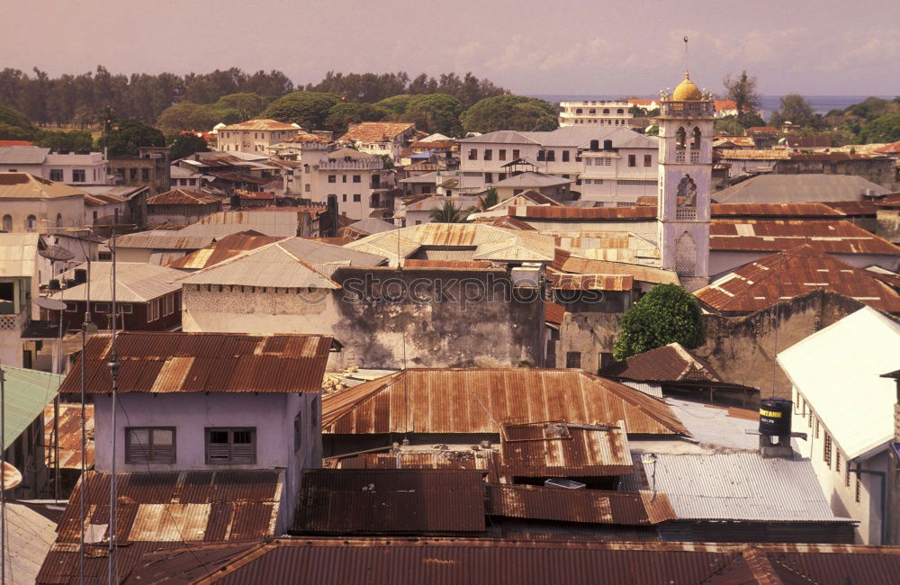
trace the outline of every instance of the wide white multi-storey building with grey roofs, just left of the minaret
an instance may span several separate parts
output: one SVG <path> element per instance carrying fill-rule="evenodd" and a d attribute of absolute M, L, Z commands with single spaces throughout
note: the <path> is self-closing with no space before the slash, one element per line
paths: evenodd
<path fill-rule="evenodd" d="M 460 193 L 479 193 L 529 170 L 570 179 L 573 193 L 603 205 L 633 205 L 656 193 L 657 139 L 621 126 L 499 130 L 459 142 Z"/>

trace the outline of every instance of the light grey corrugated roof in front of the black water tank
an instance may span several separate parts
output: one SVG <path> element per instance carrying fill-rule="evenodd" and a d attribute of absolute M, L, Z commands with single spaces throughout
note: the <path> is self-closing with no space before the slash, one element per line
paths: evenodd
<path fill-rule="evenodd" d="M 655 488 L 669 496 L 680 519 L 846 520 L 834 516 L 808 459 L 764 459 L 757 453 L 656 455 L 655 464 L 644 463 L 649 482 L 654 465 Z"/>

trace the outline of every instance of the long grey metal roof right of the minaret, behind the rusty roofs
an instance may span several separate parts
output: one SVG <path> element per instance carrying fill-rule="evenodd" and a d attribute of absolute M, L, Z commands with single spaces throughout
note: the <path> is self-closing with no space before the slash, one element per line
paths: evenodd
<path fill-rule="evenodd" d="M 720 203 L 860 201 L 868 189 L 889 191 L 859 175 L 759 175 L 711 196 Z"/>

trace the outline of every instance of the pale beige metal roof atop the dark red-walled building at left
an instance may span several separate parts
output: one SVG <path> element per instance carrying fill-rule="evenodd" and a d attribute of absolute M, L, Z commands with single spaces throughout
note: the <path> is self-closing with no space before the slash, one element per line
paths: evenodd
<path fill-rule="evenodd" d="M 85 268 L 86 264 L 76 266 Z M 150 302 L 164 294 L 175 293 L 181 284 L 170 281 L 184 273 L 145 262 L 116 262 L 116 302 Z M 91 302 L 112 302 L 112 262 L 92 262 L 90 271 Z M 59 278 L 75 278 L 75 268 Z M 85 301 L 87 283 L 76 284 L 51 295 L 60 301 Z"/>

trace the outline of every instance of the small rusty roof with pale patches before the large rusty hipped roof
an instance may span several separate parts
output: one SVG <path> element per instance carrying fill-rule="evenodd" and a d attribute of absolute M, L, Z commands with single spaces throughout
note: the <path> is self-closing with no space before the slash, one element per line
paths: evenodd
<path fill-rule="evenodd" d="M 505 424 L 501 473 L 513 477 L 602 477 L 634 473 L 625 424 L 562 421 Z"/>

